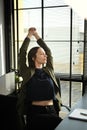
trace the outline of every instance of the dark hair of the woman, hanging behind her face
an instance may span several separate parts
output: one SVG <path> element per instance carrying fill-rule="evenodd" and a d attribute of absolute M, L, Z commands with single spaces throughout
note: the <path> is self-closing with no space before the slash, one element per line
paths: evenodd
<path fill-rule="evenodd" d="M 33 60 L 33 58 L 35 59 L 36 58 L 36 53 L 37 53 L 37 50 L 39 49 L 40 47 L 33 47 L 30 49 L 29 53 L 28 53 L 28 64 L 29 64 L 29 67 L 35 67 L 35 62 Z"/>

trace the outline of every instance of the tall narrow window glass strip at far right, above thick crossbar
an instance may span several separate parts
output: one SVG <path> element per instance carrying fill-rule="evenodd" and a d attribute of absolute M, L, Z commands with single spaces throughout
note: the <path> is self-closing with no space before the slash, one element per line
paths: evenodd
<path fill-rule="evenodd" d="M 84 20 L 73 12 L 72 73 L 83 74 Z"/>

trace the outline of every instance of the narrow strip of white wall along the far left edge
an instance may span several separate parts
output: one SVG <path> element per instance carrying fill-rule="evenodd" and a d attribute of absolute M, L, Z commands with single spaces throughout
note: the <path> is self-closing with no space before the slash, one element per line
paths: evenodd
<path fill-rule="evenodd" d="M 5 74 L 4 4 L 0 0 L 0 76 Z"/>

